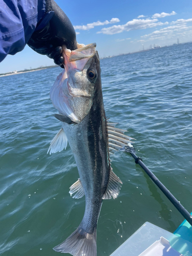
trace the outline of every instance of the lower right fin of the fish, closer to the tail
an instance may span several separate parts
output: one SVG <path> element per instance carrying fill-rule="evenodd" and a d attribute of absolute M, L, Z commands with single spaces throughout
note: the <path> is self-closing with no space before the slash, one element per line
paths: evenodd
<path fill-rule="evenodd" d="M 121 185 L 119 183 L 123 184 L 122 181 L 117 177 L 117 175 L 114 174 L 111 168 L 108 187 L 106 188 L 102 199 L 111 199 L 112 197 L 113 199 L 117 198 L 117 196 L 119 195 L 119 190 L 121 189 Z"/>

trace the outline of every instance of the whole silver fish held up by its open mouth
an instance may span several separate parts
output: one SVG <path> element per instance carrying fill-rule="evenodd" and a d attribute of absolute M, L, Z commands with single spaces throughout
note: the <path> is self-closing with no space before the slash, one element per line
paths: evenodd
<path fill-rule="evenodd" d="M 110 155 L 133 138 L 106 118 L 96 44 L 78 44 L 74 51 L 64 46 L 63 57 L 65 70 L 50 91 L 50 99 L 58 110 L 54 117 L 61 122 L 61 129 L 51 141 L 48 153 L 61 152 L 69 142 L 79 173 L 69 193 L 76 199 L 85 196 L 86 207 L 78 228 L 53 249 L 75 256 L 96 256 L 102 202 L 117 198 L 122 184 L 112 170 Z"/>

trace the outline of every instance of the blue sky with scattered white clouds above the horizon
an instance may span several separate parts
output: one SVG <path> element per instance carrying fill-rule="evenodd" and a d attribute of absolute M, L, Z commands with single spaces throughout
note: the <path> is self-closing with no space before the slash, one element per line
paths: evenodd
<path fill-rule="evenodd" d="M 192 41 L 191 0 L 56 0 L 82 44 L 97 43 L 100 57 Z M 53 65 L 28 46 L 0 63 L 0 73 Z"/>

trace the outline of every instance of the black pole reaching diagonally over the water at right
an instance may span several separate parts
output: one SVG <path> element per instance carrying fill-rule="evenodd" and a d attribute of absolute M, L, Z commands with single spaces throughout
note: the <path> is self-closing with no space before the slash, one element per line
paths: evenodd
<path fill-rule="evenodd" d="M 188 221 L 188 223 L 192 226 L 192 216 L 189 212 L 184 208 L 184 206 L 170 193 L 170 191 L 160 182 L 160 180 L 151 172 L 150 169 L 146 167 L 143 163 L 143 160 L 140 157 L 137 157 L 135 154 L 135 149 L 131 143 L 127 146 L 123 146 L 120 148 L 120 151 L 130 153 L 132 157 L 135 159 L 135 163 L 139 164 L 145 173 L 153 180 L 153 182 L 161 189 L 163 194 L 168 198 L 170 202 L 178 209 L 180 214 Z"/>

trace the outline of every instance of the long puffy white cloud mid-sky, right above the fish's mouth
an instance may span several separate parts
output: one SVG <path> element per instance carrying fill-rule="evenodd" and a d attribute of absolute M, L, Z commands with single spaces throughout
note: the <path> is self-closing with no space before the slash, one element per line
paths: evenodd
<path fill-rule="evenodd" d="M 133 19 L 124 25 L 114 25 L 109 28 L 103 28 L 101 29 L 101 31 L 97 33 L 113 35 L 113 34 L 121 33 L 123 31 L 154 28 L 156 26 L 161 26 L 161 25 L 164 25 L 164 24 L 162 22 L 158 22 L 158 19 Z"/>

